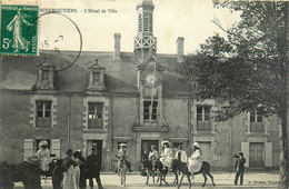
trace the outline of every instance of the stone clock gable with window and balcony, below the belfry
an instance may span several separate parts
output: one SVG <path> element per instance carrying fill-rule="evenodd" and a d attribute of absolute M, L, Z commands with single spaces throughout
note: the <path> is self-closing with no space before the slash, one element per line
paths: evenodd
<path fill-rule="evenodd" d="M 134 129 L 139 131 L 167 131 L 162 117 L 162 73 L 166 70 L 153 54 L 138 66 L 139 118 Z"/>

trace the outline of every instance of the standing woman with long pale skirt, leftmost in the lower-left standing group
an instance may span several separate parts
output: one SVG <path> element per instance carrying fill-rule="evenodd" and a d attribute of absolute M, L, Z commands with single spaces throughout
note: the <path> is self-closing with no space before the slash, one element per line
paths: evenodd
<path fill-rule="evenodd" d="M 72 149 L 67 150 L 67 158 L 63 160 L 64 166 L 64 178 L 63 178 L 63 189 L 77 189 L 74 179 L 74 160 L 72 157 Z"/>

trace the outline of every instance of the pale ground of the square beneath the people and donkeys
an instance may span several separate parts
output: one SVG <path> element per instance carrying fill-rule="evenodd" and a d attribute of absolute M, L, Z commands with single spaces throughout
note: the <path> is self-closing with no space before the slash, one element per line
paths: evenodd
<path fill-rule="evenodd" d="M 246 172 L 245 175 L 245 180 L 243 180 L 243 186 L 235 186 L 233 185 L 233 179 L 235 179 L 235 173 L 232 172 L 212 172 L 212 176 L 215 178 L 215 183 L 216 187 L 212 187 L 211 180 L 208 178 L 207 186 L 205 188 L 215 188 L 215 189 L 220 189 L 220 188 L 267 188 L 267 189 L 273 189 L 277 188 L 279 176 L 277 171 L 270 171 L 270 172 Z M 167 181 L 169 186 L 166 186 L 166 183 L 161 187 L 162 189 L 171 189 L 171 188 L 177 188 L 176 185 L 172 185 L 175 179 L 175 176 L 172 173 L 169 173 L 167 176 Z M 120 187 L 120 178 L 111 172 L 102 172 L 101 173 L 101 181 L 102 185 L 106 189 L 118 189 L 118 188 L 123 188 Z M 43 180 L 41 181 L 43 189 L 52 189 L 51 185 L 51 179 L 48 178 L 48 181 L 44 182 Z M 203 177 L 201 175 L 196 176 L 193 182 L 192 182 L 192 189 L 200 189 L 201 185 L 203 182 Z M 149 188 L 149 189 L 157 189 L 160 188 L 158 183 L 152 183 L 152 179 L 150 179 L 149 185 L 146 183 L 146 177 L 141 177 L 139 172 L 132 172 L 129 173 L 127 177 L 127 187 L 126 188 L 131 188 L 131 189 L 142 189 L 142 188 Z M 96 186 L 96 185 L 94 185 Z M 22 185 L 20 182 L 16 183 L 17 189 L 22 189 Z M 97 188 L 97 187 L 94 187 Z M 188 179 L 183 178 L 183 185 L 181 189 L 189 188 L 188 187 Z M 89 189 L 89 187 L 88 187 Z"/>

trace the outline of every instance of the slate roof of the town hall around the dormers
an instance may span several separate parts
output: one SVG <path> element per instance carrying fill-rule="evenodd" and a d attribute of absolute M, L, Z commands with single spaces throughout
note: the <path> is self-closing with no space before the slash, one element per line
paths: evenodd
<path fill-rule="evenodd" d="M 64 52 L 74 53 L 77 52 Z M 166 67 L 163 93 L 187 94 L 188 84 L 179 81 L 180 64 L 176 56 L 157 54 L 158 62 Z M 53 51 L 41 51 L 39 57 L 0 57 L 0 89 L 31 90 L 37 82 L 37 64 L 56 61 L 60 57 Z M 104 84 L 108 92 L 138 92 L 134 53 L 121 52 L 121 61 L 113 61 L 112 52 L 81 52 L 79 59 L 68 69 L 57 72 L 58 91 L 83 92 L 88 86 L 89 67 L 96 63 L 106 68 Z"/>

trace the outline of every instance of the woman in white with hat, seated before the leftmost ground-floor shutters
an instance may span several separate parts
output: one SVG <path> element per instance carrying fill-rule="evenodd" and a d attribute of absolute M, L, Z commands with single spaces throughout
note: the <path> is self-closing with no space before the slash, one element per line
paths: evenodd
<path fill-rule="evenodd" d="M 39 142 L 39 150 L 36 156 L 40 159 L 40 169 L 44 172 L 49 170 L 50 162 L 50 150 L 48 149 L 48 142 L 46 140 L 41 140 Z"/>

